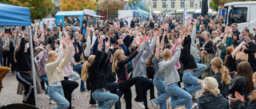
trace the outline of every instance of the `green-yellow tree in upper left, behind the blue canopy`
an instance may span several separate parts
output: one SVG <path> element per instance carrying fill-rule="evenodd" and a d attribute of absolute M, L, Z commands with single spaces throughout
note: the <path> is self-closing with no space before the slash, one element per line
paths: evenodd
<path fill-rule="evenodd" d="M 46 18 L 54 13 L 54 3 L 51 0 L 2 0 L 2 3 L 30 8 L 31 21 Z"/>

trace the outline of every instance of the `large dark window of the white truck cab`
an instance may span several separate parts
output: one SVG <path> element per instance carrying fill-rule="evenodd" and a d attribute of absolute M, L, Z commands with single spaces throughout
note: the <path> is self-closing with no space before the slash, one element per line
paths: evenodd
<path fill-rule="evenodd" d="M 236 7 L 230 13 L 230 22 L 232 23 L 242 23 L 247 21 L 247 7 Z"/>

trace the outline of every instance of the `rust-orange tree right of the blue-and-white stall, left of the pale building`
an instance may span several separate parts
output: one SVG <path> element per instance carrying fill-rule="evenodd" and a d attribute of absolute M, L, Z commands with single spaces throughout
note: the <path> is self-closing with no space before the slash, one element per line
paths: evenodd
<path fill-rule="evenodd" d="M 104 0 L 101 4 L 99 4 L 99 10 L 102 12 L 109 12 L 110 16 L 114 13 L 118 13 L 118 10 L 122 10 L 125 6 L 124 1 L 118 0 Z"/>

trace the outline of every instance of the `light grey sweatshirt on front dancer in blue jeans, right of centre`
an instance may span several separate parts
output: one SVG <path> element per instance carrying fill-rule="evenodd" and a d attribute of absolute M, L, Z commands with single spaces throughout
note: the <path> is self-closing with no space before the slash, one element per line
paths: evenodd
<path fill-rule="evenodd" d="M 158 64 L 159 72 L 165 75 L 164 82 L 166 83 L 166 85 L 174 84 L 180 81 L 175 64 L 177 63 L 181 55 L 181 49 L 182 48 L 180 46 L 177 46 L 174 56 L 170 60 L 162 61 Z"/>

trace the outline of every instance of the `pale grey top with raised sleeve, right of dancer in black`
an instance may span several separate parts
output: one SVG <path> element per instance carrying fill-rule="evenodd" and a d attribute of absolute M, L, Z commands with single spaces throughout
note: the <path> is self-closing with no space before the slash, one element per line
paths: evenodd
<path fill-rule="evenodd" d="M 194 58 L 198 58 L 198 47 L 197 45 L 194 44 L 194 40 L 196 37 L 196 30 L 192 29 L 192 34 L 191 34 L 191 45 L 190 45 L 190 54 L 194 56 Z"/>

